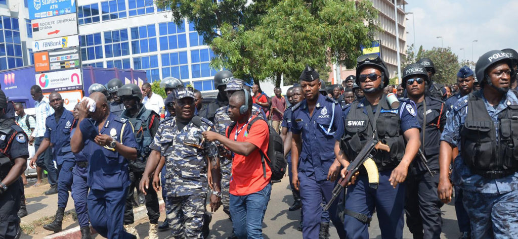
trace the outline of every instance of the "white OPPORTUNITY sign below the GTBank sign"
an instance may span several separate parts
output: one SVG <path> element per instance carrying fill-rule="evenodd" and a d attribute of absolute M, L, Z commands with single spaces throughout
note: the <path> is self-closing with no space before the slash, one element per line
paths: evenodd
<path fill-rule="evenodd" d="M 36 74 L 36 84 L 41 86 L 44 93 L 81 89 L 83 86 L 81 69 Z"/>

